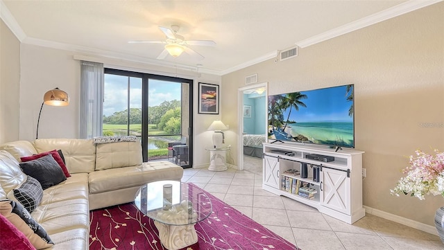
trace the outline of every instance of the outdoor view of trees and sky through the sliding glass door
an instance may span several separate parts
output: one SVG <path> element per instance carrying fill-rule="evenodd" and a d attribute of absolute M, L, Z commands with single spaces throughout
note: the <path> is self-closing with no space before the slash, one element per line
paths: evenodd
<path fill-rule="evenodd" d="M 103 136 L 142 136 L 148 126 L 148 159 L 167 158 L 168 143 L 180 140 L 180 82 L 148 80 L 148 121 L 142 120 L 142 78 L 105 73 Z"/>

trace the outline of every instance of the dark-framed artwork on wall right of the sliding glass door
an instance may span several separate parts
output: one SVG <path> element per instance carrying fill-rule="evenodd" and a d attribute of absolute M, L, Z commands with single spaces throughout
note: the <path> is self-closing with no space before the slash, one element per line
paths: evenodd
<path fill-rule="evenodd" d="M 199 114 L 219 114 L 219 85 L 199 82 Z"/>

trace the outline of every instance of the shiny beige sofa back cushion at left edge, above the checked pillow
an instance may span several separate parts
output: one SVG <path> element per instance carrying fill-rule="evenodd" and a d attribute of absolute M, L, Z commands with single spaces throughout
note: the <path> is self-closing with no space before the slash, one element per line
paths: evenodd
<path fill-rule="evenodd" d="M 0 150 L 0 173 L 0 186 L 6 194 L 26 180 L 17 159 L 5 150 Z"/>

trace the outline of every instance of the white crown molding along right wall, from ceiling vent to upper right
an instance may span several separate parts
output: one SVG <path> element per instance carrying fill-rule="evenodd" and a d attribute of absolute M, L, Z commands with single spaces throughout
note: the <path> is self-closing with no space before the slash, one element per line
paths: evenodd
<path fill-rule="evenodd" d="M 392 8 L 388 8 L 386 10 L 382 10 L 381 12 L 377 12 L 373 15 L 369 15 L 367 17 L 358 19 L 357 21 L 353 21 L 349 24 L 345 24 L 343 26 L 339 26 L 338 28 L 334 28 L 332 30 L 328 30 L 325 33 L 321 33 L 319 35 L 314 35 L 313 37 L 309 37 L 300 42 L 296 42 L 296 45 L 301 48 L 305 48 L 307 46 L 311 46 L 314 44 L 318 44 L 320 42 L 324 42 L 328 39 L 332 39 L 334 37 L 339 37 L 340 35 L 345 35 L 355 30 L 359 30 L 361 28 L 366 28 L 367 26 L 377 24 L 381 21 L 385 21 L 387 19 L 391 19 L 393 17 L 398 17 L 400 15 L 404 15 L 408 12 L 412 12 L 414 10 L 418 10 L 420 8 L 424 8 L 430 6 L 434 3 L 439 3 L 443 0 L 410 0 L 404 3 L 398 4 L 397 6 L 393 6 Z"/>

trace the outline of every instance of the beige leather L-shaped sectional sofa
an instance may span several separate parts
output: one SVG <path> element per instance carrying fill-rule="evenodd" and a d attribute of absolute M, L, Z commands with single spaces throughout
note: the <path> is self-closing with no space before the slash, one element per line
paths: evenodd
<path fill-rule="evenodd" d="M 27 176 L 20 157 L 62 150 L 71 177 L 43 191 L 31 216 L 55 243 L 50 249 L 89 249 L 89 210 L 133 202 L 137 189 L 182 178 L 169 161 L 142 163 L 139 142 L 94 144 L 92 139 L 37 139 L 0 145 L 0 199 L 14 199 Z"/>

